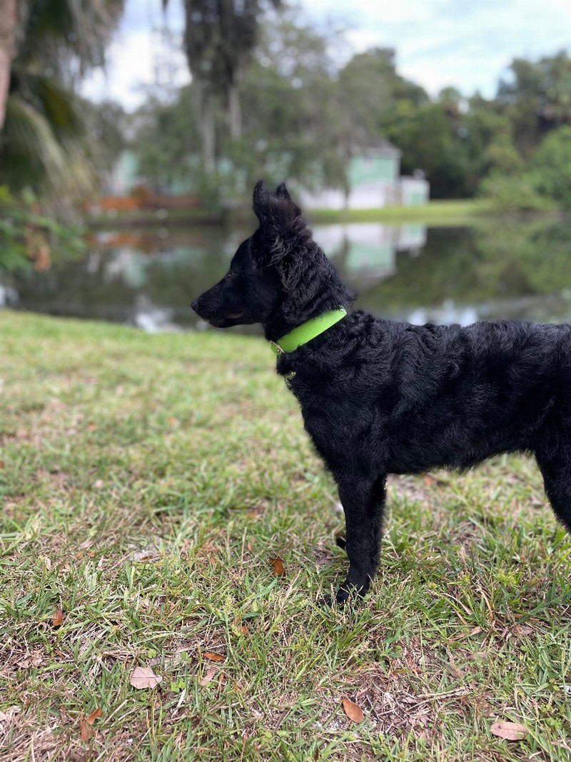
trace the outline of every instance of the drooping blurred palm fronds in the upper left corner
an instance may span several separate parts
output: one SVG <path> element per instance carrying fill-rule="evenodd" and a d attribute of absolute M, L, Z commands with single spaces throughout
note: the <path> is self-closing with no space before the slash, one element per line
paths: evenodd
<path fill-rule="evenodd" d="M 0 0 L 2 2 L 2 0 Z M 5 2 L 5 0 L 4 0 Z M 19 4 L 0 181 L 57 198 L 88 190 L 85 124 L 76 80 L 101 66 L 124 0 L 28 0 Z"/>

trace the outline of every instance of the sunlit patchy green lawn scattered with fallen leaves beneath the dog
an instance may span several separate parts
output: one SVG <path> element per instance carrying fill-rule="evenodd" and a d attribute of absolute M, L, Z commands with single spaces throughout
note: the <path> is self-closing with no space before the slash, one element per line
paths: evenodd
<path fill-rule="evenodd" d="M 263 341 L 0 328 L 4 762 L 571 760 L 571 544 L 531 460 L 391 479 L 372 594 L 325 610 L 342 518 Z"/>

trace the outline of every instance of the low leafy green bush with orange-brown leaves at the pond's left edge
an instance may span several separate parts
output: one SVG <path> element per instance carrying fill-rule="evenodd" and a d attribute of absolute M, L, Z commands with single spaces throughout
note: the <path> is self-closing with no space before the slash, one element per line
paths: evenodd
<path fill-rule="evenodd" d="M 0 273 L 23 267 L 49 269 L 53 257 L 78 255 L 84 232 L 40 209 L 29 192 L 16 200 L 0 186 Z"/>

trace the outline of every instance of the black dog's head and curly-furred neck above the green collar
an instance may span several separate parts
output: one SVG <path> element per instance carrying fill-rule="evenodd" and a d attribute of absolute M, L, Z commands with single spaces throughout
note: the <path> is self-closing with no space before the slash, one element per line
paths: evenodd
<path fill-rule="evenodd" d="M 301 210 L 285 184 L 275 193 L 263 182 L 254 188 L 260 226 L 241 243 L 228 274 L 193 302 L 194 311 L 217 328 L 266 323 L 279 312 L 284 322 L 303 310 L 322 287 L 337 283 L 338 303 L 351 301 L 333 266 L 311 239 Z"/>

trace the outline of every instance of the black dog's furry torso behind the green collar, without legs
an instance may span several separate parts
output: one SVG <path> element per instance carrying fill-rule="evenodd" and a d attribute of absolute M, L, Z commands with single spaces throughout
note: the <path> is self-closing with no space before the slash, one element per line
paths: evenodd
<path fill-rule="evenodd" d="M 330 467 L 349 451 L 391 473 L 462 468 L 536 449 L 550 413 L 569 405 L 570 341 L 566 325 L 414 326 L 354 312 L 278 371 Z"/>

